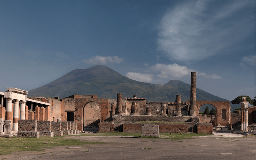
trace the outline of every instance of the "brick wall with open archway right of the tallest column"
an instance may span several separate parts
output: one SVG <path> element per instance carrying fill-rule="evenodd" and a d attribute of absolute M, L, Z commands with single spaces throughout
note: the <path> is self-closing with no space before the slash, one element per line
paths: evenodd
<path fill-rule="evenodd" d="M 196 100 L 196 115 L 199 116 L 199 109 L 204 104 L 213 105 L 217 111 L 216 124 L 229 125 L 230 124 L 230 102 L 229 101 L 197 101 Z M 226 119 L 222 119 L 222 109 L 226 110 Z"/>

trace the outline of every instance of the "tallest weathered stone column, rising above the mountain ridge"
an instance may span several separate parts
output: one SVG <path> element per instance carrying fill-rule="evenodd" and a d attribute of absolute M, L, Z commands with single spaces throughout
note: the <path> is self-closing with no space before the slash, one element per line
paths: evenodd
<path fill-rule="evenodd" d="M 196 72 L 191 72 L 190 115 L 196 116 Z"/>

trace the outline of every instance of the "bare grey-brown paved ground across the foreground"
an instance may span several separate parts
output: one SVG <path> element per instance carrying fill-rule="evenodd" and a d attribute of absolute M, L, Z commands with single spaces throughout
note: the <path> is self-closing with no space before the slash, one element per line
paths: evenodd
<path fill-rule="evenodd" d="M 84 141 L 111 142 L 84 146 L 60 146 L 45 152 L 16 152 L 0 156 L 5 160 L 120 160 L 120 159 L 255 159 L 256 136 L 214 133 L 215 137 L 141 139 L 132 137 L 72 137 Z M 70 137 L 68 137 L 70 138 Z M 68 148 L 67 148 L 68 147 Z"/>

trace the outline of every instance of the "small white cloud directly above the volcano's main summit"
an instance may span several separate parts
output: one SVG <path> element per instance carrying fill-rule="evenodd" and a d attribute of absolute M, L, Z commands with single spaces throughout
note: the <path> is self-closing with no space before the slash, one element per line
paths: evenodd
<path fill-rule="evenodd" d="M 124 59 L 118 58 L 118 56 L 114 57 L 102 57 L 102 56 L 96 56 L 91 57 L 89 60 L 84 60 L 84 62 L 89 64 L 109 64 L 109 63 L 121 63 Z"/>

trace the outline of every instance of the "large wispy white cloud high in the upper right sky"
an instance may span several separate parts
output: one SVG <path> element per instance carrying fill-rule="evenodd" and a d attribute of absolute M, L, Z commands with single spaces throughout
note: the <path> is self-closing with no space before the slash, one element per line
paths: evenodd
<path fill-rule="evenodd" d="M 252 35 L 254 17 L 239 12 L 255 2 L 217 3 L 188 1 L 167 11 L 159 26 L 158 49 L 171 60 L 202 60 Z"/>

